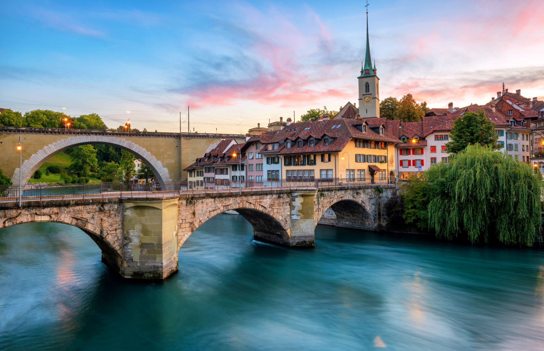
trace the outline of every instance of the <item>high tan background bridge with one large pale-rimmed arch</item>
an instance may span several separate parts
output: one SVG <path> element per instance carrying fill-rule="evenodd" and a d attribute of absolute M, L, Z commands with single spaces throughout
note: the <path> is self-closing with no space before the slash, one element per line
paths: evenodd
<path fill-rule="evenodd" d="M 22 167 L 16 147 L 22 137 Z M 64 130 L 61 128 L 27 128 L 0 126 L 0 159 L 4 174 L 14 184 L 26 184 L 48 158 L 70 147 L 105 144 L 130 151 L 147 164 L 160 182 L 180 181 L 183 171 L 201 157 L 209 145 L 221 137 L 245 140 L 238 134 L 156 133 L 98 130 Z"/>

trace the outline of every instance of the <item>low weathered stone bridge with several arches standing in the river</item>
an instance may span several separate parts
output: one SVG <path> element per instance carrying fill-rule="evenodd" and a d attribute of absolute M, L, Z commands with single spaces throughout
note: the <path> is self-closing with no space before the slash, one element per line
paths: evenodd
<path fill-rule="evenodd" d="M 329 224 L 380 230 L 385 201 L 395 185 L 291 184 L 264 188 L 167 189 L 154 192 L 23 196 L 0 189 L 0 229 L 36 221 L 77 226 L 102 250 L 102 261 L 126 278 L 165 279 L 178 269 L 178 250 L 209 218 L 235 210 L 259 241 L 314 247 L 314 229 L 325 211 Z M 176 183 L 172 183 L 176 184 Z M 91 184 L 89 184 L 90 186 Z M 28 186 L 27 186 L 28 187 Z M 57 187 L 59 189 L 60 187 Z M 3 195 L 3 196 L 2 196 Z"/>

